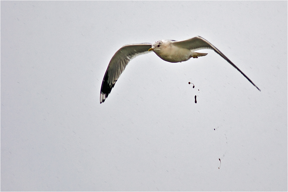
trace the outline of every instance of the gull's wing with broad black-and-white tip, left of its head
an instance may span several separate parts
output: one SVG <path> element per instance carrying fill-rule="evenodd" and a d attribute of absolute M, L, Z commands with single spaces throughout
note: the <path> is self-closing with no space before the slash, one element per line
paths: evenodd
<path fill-rule="evenodd" d="M 114 87 L 116 81 L 124 71 L 128 62 L 138 55 L 148 53 L 151 48 L 151 43 L 137 43 L 128 44 L 121 47 L 111 58 L 104 75 L 101 92 L 100 92 L 100 103 L 104 102 Z"/>

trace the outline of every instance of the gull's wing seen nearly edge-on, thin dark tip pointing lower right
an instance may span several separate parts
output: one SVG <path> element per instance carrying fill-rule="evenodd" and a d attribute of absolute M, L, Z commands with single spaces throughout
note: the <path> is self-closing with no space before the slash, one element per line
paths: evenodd
<path fill-rule="evenodd" d="M 252 81 L 247 77 L 234 63 L 232 63 L 219 49 L 217 49 L 214 45 L 212 45 L 209 41 L 204 39 L 203 37 L 193 37 L 191 39 L 186 39 L 183 41 L 175 41 L 172 42 L 173 45 L 177 47 L 182 47 L 186 49 L 190 49 L 192 52 L 200 50 L 200 49 L 212 49 L 216 53 L 218 53 L 221 57 L 223 57 L 228 63 L 230 63 L 233 67 L 235 67 L 252 85 L 254 85 L 259 91 L 261 91 Z"/>

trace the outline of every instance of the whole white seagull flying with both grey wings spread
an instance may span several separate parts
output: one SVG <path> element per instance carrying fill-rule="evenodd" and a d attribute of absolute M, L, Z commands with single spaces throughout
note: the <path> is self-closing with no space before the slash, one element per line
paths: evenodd
<path fill-rule="evenodd" d="M 195 52 L 201 49 L 212 49 L 221 57 L 223 57 L 228 63 L 235 67 L 252 85 L 254 85 L 259 91 L 261 91 L 250 79 L 247 77 L 234 63 L 232 63 L 221 51 L 219 51 L 214 45 L 203 37 L 197 36 L 191 39 L 183 41 L 175 40 L 159 40 L 154 43 L 137 43 L 128 44 L 121 47 L 111 58 L 107 70 L 105 72 L 101 91 L 100 91 L 100 103 L 103 103 L 110 94 L 116 81 L 124 71 L 125 67 L 133 58 L 147 54 L 151 51 L 156 53 L 158 57 L 164 61 L 171 63 L 177 63 L 187 61 L 190 58 L 198 58 L 206 56 L 208 53 Z"/>

